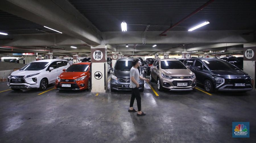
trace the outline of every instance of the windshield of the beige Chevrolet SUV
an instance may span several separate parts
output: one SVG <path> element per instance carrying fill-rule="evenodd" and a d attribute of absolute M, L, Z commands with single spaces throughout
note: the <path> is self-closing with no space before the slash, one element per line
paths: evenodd
<path fill-rule="evenodd" d="M 187 69 L 180 61 L 164 60 L 161 61 L 161 68 L 166 69 Z"/>

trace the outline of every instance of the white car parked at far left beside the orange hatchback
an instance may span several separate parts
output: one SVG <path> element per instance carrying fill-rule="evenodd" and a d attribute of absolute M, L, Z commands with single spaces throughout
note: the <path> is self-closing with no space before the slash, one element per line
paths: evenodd
<path fill-rule="evenodd" d="M 48 84 L 54 83 L 63 69 L 70 65 L 67 60 L 38 60 L 31 62 L 8 76 L 7 85 L 13 90 L 39 88 L 46 90 Z"/>

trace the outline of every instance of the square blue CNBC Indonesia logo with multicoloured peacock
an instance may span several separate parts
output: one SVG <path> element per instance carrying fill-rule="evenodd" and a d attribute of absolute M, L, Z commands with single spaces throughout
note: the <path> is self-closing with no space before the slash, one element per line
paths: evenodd
<path fill-rule="evenodd" d="M 233 122 L 232 126 L 234 129 L 233 137 L 249 137 L 249 122 Z"/>

